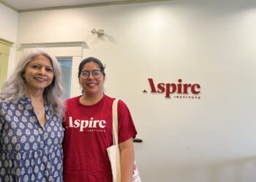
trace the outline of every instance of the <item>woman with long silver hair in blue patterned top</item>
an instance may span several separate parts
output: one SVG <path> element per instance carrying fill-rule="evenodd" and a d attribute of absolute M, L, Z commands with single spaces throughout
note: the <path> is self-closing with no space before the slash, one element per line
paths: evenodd
<path fill-rule="evenodd" d="M 0 181 L 62 181 L 61 67 L 28 52 L 0 94 Z"/>

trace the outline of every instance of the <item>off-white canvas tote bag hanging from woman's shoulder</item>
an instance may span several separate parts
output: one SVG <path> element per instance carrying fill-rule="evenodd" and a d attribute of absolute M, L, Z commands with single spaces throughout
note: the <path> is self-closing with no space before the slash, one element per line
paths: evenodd
<path fill-rule="evenodd" d="M 113 182 L 121 181 L 121 166 L 120 166 L 120 151 L 118 146 L 118 116 L 117 116 L 117 103 L 118 99 L 113 101 L 113 146 L 108 147 L 108 158 L 113 175 Z M 133 167 L 132 182 L 141 182 L 140 175 L 136 163 Z"/>

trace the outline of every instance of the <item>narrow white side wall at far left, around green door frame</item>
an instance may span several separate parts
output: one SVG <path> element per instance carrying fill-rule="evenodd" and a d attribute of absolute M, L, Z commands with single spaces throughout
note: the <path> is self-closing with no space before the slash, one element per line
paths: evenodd
<path fill-rule="evenodd" d="M 18 28 L 18 12 L 5 7 L 0 4 L 0 38 L 16 42 L 17 28 Z M 9 62 L 8 62 L 8 76 L 12 72 L 13 65 L 15 63 L 15 44 L 10 48 Z"/>

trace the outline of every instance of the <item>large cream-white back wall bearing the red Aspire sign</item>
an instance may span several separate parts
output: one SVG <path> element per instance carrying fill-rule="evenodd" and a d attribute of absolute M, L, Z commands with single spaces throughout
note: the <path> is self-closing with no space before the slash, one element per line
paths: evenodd
<path fill-rule="evenodd" d="M 18 43 L 85 41 L 83 57 L 107 64 L 105 91 L 127 103 L 143 139 L 135 144 L 143 181 L 252 182 L 255 20 L 255 0 L 24 12 Z M 92 28 L 108 36 L 98 39 Z M 148 78 L 199 83 L 200 99 L 143 93 Z"/>

